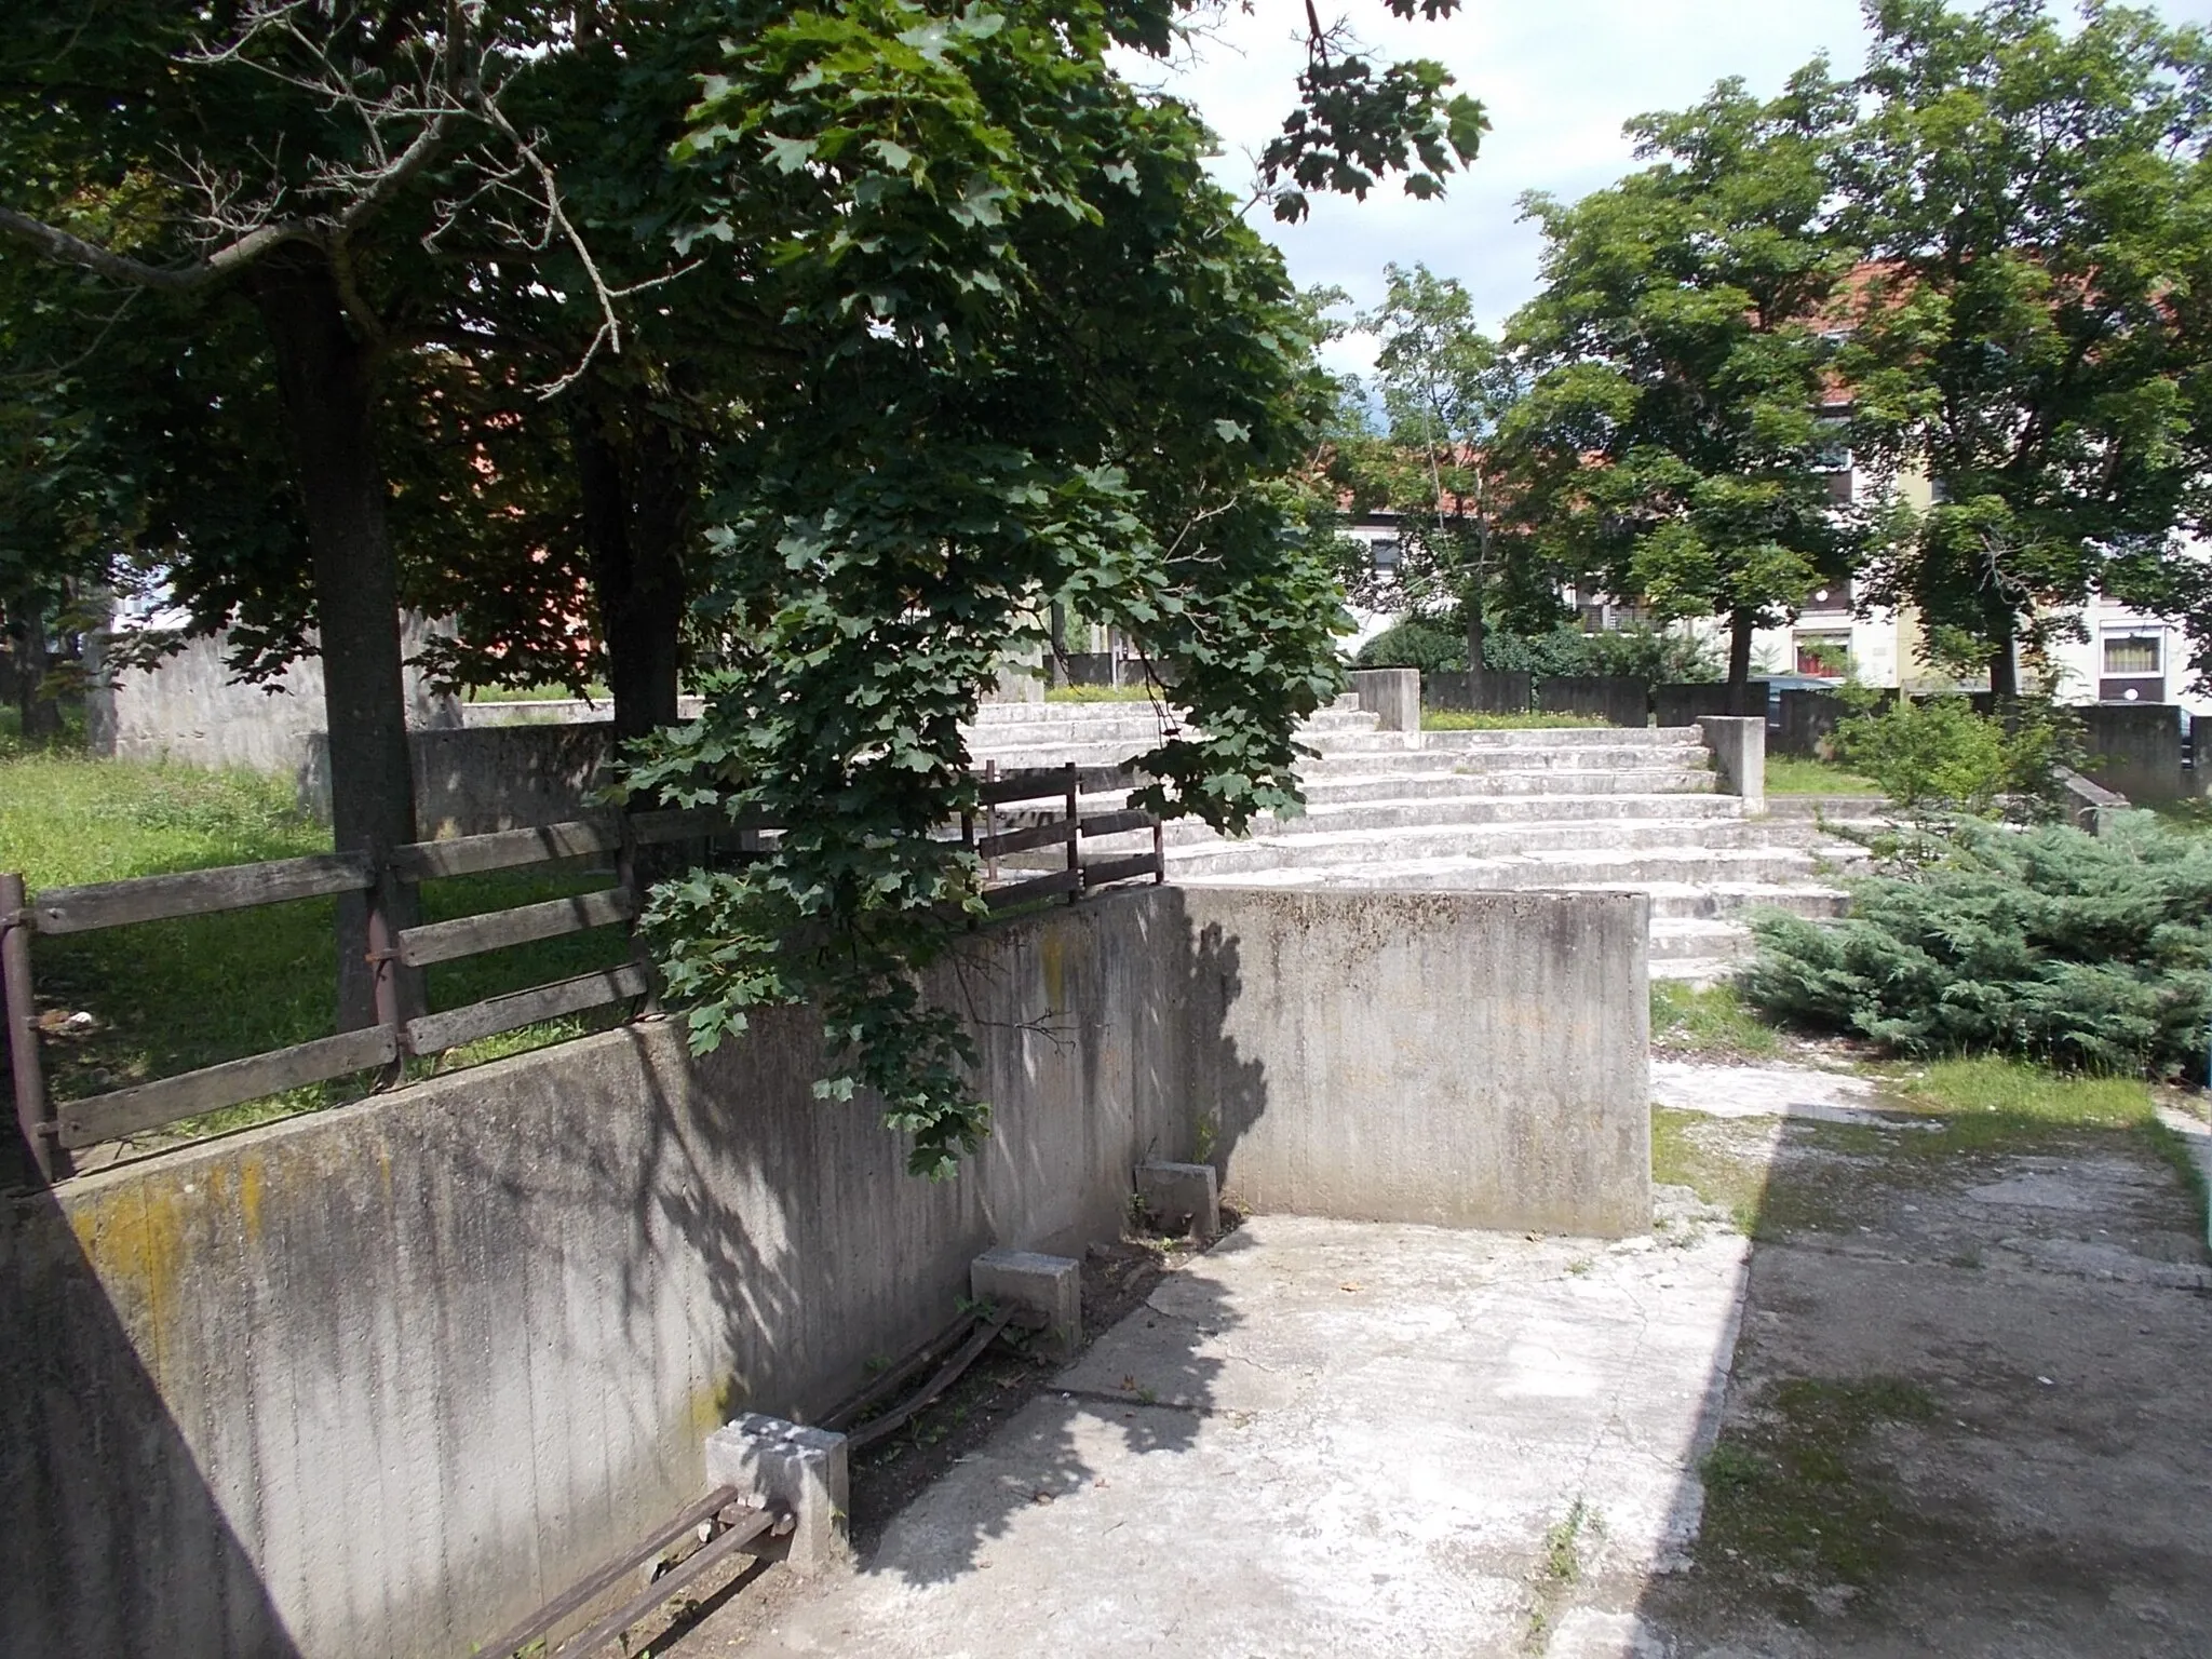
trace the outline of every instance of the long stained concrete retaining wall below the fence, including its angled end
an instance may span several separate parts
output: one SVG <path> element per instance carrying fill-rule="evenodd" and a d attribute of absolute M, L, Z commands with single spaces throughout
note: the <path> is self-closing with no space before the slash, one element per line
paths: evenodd
<path fill-rule="evenodd" d="M 0 1648 L 467 1652 L 818 1413 L 987 1245 L 1115 1232 L 1141 1157 L 1314 1214 L 1648 1221 L 1644 907 L 1135 889 L 936 991 L 993 1135 L 942 1186 L 812 1099 L 810 1018 L 648 1024 L 20 1199 Z"/>

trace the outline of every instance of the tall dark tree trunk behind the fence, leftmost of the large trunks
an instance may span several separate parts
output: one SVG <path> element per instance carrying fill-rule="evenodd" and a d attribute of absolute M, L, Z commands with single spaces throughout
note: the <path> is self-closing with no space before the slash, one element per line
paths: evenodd
<path fill-rule="evenodd" d="M 330 263 L 288 252 L 257 268 L 252 299 L 276 356 L 292 478 L 307 520 L 314 619 L 330 726 L 330 823 L 338 852 L 383 860 L 416 838 L 400 670 L 398 564 L 385 524 L 374 440 L 374 354 L 347 327 Z M 383 896 L 394 927 L 411 894 Z M 394 964 L 400 1013 L 420 1009 L 420 975 Z M 338 1029 L 376 1024 L 367 898 L 338 902 Z"/>

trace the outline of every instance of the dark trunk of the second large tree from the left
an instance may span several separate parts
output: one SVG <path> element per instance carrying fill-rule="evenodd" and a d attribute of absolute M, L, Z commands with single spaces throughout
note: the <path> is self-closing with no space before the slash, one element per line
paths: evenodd
<path fill-rule="evenodd" d="M 650 411 L 628 414 L 624 420 L 606 400 L 586 400 L 573 422 L 606 688 L 624 743 L 677 723 L 692 509 L 681 431 Z"/>

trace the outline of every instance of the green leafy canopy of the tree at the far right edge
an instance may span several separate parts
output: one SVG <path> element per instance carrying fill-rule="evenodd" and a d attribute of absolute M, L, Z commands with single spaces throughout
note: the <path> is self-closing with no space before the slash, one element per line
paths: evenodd
<path fill-rule="evenodd" d="M 1854 442 L 1920 467 L 1869 591 L 1982 646 L 2093 593 L 2170 602 L 2201 518 L 2212 44 L 2148 11 L 1882 0 L 1845 164 L 1871 268 L 1840 369 Z M 2199 637 L 2205 637 L 2199 626 Z"/>

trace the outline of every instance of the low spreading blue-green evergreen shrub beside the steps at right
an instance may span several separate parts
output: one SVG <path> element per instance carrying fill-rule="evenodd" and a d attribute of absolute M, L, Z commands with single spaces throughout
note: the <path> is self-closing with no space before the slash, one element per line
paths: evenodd
<path fill-rule="evenodd" d="M 2197 1075 L 2212 1022 L 2212 845 L 2117 814 L 1949 827 L 1944 854 L 1854 883 L 1851 916 L 1752 918 L 1745 998 L 1909 1055 L 1993 1051 Z"/>

